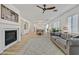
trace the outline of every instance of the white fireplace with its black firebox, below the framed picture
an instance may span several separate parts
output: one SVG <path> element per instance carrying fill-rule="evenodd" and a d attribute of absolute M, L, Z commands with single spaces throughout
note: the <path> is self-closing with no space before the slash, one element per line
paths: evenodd
<path fill-rule="evenodd" d="M 19 25 L 0 23 L 0 53 L 21 40 L 20 32 L 21 31 Z M 6 39 L 8 39 L 9 41 L 13 39 L 13 42 L 6 41 Z"/>

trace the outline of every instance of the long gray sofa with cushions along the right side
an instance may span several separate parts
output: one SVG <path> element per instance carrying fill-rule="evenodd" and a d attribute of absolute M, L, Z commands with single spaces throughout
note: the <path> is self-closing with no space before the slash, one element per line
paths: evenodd
<path fill-rule="evenodd" d="M 50 39 L 67 55 L 79 55 L 79 36 L 67 33 L 51 33 Z"/>

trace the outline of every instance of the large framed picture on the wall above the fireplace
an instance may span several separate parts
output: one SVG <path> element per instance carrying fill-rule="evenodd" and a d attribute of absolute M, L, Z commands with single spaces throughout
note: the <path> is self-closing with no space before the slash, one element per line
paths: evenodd
<path fill-rule="evenodd" d="M 18 14 L 4 5 L 1 5 L 1 18 L 8 21 L 18 22 Z"/>

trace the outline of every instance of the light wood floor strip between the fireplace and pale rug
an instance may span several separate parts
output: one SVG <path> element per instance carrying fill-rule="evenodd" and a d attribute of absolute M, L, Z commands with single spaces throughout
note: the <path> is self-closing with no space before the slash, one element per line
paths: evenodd
<path fill-rule="evenodd" d="M 14 44 L 12 47 L 6 49 L 2 55 L 16 55 L 18 54 L 23 46 L 28 42 L 28 38 L 32 35 L 33 33 L 29 33 L 29 34 L 26 34 L 24 36 L 22 36 L 22 40 L 16 44 Z"/>

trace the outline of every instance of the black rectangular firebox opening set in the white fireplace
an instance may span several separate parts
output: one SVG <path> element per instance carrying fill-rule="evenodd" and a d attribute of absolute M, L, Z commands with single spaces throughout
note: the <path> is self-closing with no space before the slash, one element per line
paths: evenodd
<path fill-rule="evenodd" d="M 17 30 L 5 31 L 5 46 L 17 40 Z"/>

